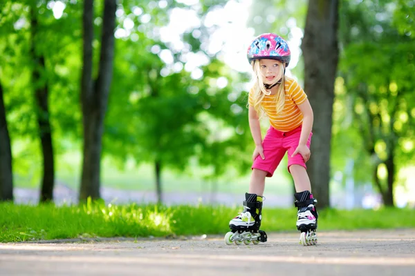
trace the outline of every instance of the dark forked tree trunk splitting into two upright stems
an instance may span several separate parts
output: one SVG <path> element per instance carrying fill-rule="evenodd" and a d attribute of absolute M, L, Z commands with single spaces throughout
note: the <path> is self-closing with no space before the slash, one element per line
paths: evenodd
<path fill-rule="evenodd" d="M 82 68 L 82 115 L 84 148 L 80 201 L 100 198 L 100 171 L 104 117 L 107 112 L 109 88 L 113 75 L 114 28 L 116 0 L 104 1 L 100 65 L 98 78 L 92 80 L 93 0 L 84 1 Z"/>

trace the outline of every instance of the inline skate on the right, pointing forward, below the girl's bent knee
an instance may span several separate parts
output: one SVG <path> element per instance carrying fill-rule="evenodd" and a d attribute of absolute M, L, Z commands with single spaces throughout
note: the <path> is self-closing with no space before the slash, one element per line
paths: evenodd
<path fill-rule="evenodd" d="M 313 195 L 305 190 L 301 193 L 295 193 L 295 206 L 298 208 L 297 212 L 297 230 L 301 231 L 299 237 L 300 244 L 307 246 L 317 244 L 317 219 L 318 213 L 315 208 L 317 199 L 313 198 Z"/>

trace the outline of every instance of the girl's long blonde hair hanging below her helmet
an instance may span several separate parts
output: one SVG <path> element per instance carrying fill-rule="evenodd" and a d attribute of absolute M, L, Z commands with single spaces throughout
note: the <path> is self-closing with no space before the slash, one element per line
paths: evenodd
<path fill-rule="evenodd" d="M 284 76 L 284 65 L 282 62 L 278 61 L 280 63 L 281 66 L 279 66 L 279 68 L 281 68 L 282 70 L 282 80 L 281 83 L 279 83 L 279 87 L 277 90 L 277 93 L 275 94 L 275 101 L 277 103 L 276 108 L 277 108 L 277 114 L 279 112 L 282 112 L 282 110 L 284 109 L 284 103 L 285 103 L 285 79 L 286 77 Z M 264 99 L 265 95 L 270 95 L 271 91 L 270 90 L 266 90 L 265 86 L 264 86 L 264 79 L 261 73 L 261 63 L 259 61 L 259 59 L 255 59 L 254 61 L 251 62 L 252 64 L 252 70 L 253 70 L 253 86 L 252 89 L 253 90 L 253 95 L 252 95 L 252 105 L 255 108 L 255 111 L 257 111 L 258 116 L 261 118 L 264 115 L 264 108 L 262 107 L 261 103 L 262 100 Z M 277 81 L 279 81 L 279 79 L 277 79 Z M 275 82 L 277 82 L 275 81 Z"/>

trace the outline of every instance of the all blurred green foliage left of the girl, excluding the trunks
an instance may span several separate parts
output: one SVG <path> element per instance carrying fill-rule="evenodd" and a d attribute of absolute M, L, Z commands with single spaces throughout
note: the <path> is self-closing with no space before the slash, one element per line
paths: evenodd
<path fill-rule="evenodd" d="M 210 10 L 223 6 L 225 1 L 204 1 L 201 2 L 202 8 L 176 1 L 167 2 L 166 7 L 154 1 L 123 1 L 118 6 L 116 30 L 122 30 L 124 34 L 116 32 L 114 77 L 105 118 L 103 155 L 120 163 L 131 157 L 137 163 L 160 159 L 163 167 L 178 168 L 183 172 L 190 159 L 218 155 L 225 152 L 225 148 L 229 148 L 228 158 L 230 152 L 235 152 L 233 146 L 238 152 L 244 148 L 242 144 L 245 140 L 238 139 L 240 135 L 237 134 L 226 141 L 208 142 L 212 129 L 206 127 L 210 122 L 203 119 L 205 114 L 209 115 L 210 121 L 221 115 L 228 117 L 231 106 L 236 109 L 234 105 L 239 104 L 234 103 L 233 96 L 232 101 L 228 100 L 228 94 L 237 93 L 237 99 L 241 99 L 244 91 L 237 82 L 246 79 L 232 75 L 215 55 L 207 53 L 206 46 L 202 46 L 202 41 L 216 30 L 216 26 L 203 26 L 204 18 Z M 82 1 L 62 3 L 65 9 L 58 19 L 53 14 L 52 3 L 44 1 L 37 5 L 26 0 L 6 1 L 1 6 L 0 50 L 3 55 L 0 57 L 0 81 L 5 90 L 17 179 L 27 177 L 37 182 L 42 170 L 39 167 L 41 156 L 33 97 L 38 83 L 31 81 L 33 60 L 29 55 L 32 42 L 31 9 L 35 9 L 39 19 L 33 43 L 37 54 L 44 55 L 46 59 L 42 82 L 50 88 L 50 120 L 57 160 L 62 159 L 65 152 L 79 150 L 82 144 L 80 72 L 83 6 Z M 101 1 L 95 3 L 94 63 L 98 63 L 99 58 L 102 8 Z M 169 14 L 175 8 L 194 12 L 200 17 L 199 27 L 187 28 L 181 34 L 184 50 L 178 50 L 171 42 L 160 38 L 160 30 L 169 24 Z M 129 27 L 126 27 L 128 24 Z M 194 35 L 194 30 L 198 30 L 201 36 Z M 166 52 L 172 55 L 173 63 L 162 59 L 162 54 Z M 187 61 L 194 55 L 205 58 L 199 66 L 203 70 L 203 78 L 192 77 L 193 69 L 186 69 Z M 228 79 L 228 86 L 224 89 L 212 86 L 212 82 L 219 77 Z M 237 91 L 230 87 L 231 83 L 238 87 Z M 246 130 L 241 130 L 247 124 L 245 118 L 242 120 L 243 115 L 246 115 L 246 110 L 234 113 L 230 117 L 232 121 L 223 119 L 223 127 L 230 130 L 238 128 L 239 133 L 246 133 Z M 227 164 L 242 168 L 238 162 L 239 159 L 233 157 L 232 164 Z M 59 166 L 61 162 L 57 163 Z M 210 166 L 205 161 L 201 164 Z M 216 173 L 225 171 L 225 166 L 215 166 L 223 168 L 216 170 Z"/>

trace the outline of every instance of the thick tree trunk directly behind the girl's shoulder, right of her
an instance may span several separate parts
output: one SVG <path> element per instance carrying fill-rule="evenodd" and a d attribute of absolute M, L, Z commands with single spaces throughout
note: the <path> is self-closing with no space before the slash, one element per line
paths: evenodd
<path fill-rule="evenodd" d="M 338 0 L 310 0 L 304 38 L 304 90 L 314 111 L 308 175 L 322 208 L 330 205 L 331 125 L 338 65 Z"/>

